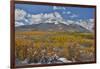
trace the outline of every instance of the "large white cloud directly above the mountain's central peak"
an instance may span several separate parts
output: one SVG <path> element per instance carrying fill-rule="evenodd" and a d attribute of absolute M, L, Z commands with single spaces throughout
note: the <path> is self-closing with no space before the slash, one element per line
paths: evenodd
<path fill-rule="evenodd" d="M 41 14 L 35 14 L 32 15 L 32 18 L 30 19 L 32 24 L 38 24 L 38 23 L 52 23 L 54 20 L 62 20 L 62 16 L 58 12 L 52 12 L 52 13 L 41 13 Z"/>

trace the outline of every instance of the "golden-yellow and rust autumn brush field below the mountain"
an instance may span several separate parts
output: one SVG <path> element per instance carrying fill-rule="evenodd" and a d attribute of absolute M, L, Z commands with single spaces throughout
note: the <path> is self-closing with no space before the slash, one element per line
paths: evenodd
<path fill-rule="evenodd" d="M 89 62 L 95 58 L 93 33 L 16 31 L 16 61 L 46 64 L 48 58 L 66 58 L 73 62 Z M 51 63 L 56 63 L 51 61 Z M 67 62 L 65 62 L 67 63 Z M 19 62 L 18 62 L 19 64 Z"/>

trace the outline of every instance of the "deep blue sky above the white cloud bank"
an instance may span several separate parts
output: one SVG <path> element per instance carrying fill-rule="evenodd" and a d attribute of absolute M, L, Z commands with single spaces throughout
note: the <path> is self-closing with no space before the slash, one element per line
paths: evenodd
<path fill-rule="evenodd" d="M 93 19 L 94 8 L 62 7 L 48 5 L 15 4 L 16 9 L 23 9 L 30 14 L 59 12 L 65 19 Z"/>

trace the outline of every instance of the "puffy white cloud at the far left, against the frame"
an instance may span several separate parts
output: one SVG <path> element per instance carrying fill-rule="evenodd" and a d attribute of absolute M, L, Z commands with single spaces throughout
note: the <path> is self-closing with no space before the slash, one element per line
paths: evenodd
<path fill-rule="evenodd" d="M 22 9 L 15 9 L 15 26 L 21 26 L 30 23 L 31 14 Z"/>

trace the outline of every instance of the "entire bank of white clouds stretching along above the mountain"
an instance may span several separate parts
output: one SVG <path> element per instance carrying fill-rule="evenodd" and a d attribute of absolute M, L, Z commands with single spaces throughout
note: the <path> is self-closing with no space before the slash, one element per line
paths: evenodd
<path fill-rule="evenodd" d="M 84 27 L 89 31 L 93 31 L 94 19 L 64 19 L 61 13 L 52 12 L 52 13 L 40 13 L 40 14 L 30 14 L 22 9 L 15 10 L 15 27 L 23 25 L 33 25 L 41 23 L 53 23 L 53 24 L 76 24 Z"/>

